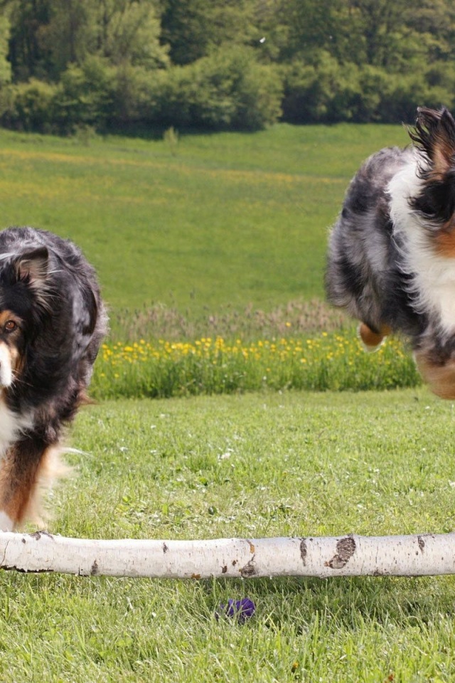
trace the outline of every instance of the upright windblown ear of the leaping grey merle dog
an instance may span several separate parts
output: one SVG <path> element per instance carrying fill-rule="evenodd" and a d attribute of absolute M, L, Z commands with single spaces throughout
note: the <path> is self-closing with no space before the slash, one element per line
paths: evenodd
<path fill-rule="evenodd" d="M 454 165 L 455 120 L 445 107 L 441 110 L 419 107 L 410 137 L 429 160 L 433 176 L 443 176 Z"/>

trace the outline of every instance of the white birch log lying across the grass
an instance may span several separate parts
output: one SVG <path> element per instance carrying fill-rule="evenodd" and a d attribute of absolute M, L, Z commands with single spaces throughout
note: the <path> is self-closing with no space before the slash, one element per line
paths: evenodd
<path fill-rule="evenodd" d="M 97 541 L 0 531 L 0 568 L 149 578 L 453 574 L 455 534 Z"/>

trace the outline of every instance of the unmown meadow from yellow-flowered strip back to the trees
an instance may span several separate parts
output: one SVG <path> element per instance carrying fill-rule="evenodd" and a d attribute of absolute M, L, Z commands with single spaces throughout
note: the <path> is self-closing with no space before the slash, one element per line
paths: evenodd
<path fill-rule="evenodd" d="M 414 386 L 406 352 L 358 358 L 348 322 L 321 303 L 350 177 L 405 142 L 401 127 L 360 125 L 149 140 L 0 132 L 1 221 L 69 236 L 97 267 L 112 333 L 95 398 Z M 340 327 L 349 357 L 321 337 Z M 214 347 L 200 354 L 205 339 Z M 186 346 L 168 354 L 166 342 Z M 125 351 L 134 344 L 139 355 Z"/>

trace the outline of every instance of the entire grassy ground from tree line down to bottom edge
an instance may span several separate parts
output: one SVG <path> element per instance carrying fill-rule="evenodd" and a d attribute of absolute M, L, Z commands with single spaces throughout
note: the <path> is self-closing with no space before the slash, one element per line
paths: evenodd
<path fill-rule="evenodd" d="M 387 126 L 178 142 L 0 131 L 1 223 L 79 243 L 112 319 L 97 405 L 70 434 L 75 476 L 49 495 L 52 531 L 454 528 L 453 405 L 418 386 L 405 341 L 363 354 L 352 324 L 322 302 L 327 228 L 350 176 L 375 149 L 405 143 Z M 0 595 L 1 683 L 455 679 L 451 577 L 4 572 Z M 256 605 L 247 623 L 215 619 L 244 597 Z"/>

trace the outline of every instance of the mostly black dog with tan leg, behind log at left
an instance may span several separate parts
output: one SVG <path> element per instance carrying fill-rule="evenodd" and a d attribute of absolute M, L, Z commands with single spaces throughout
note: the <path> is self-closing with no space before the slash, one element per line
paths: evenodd
<path fill-rule="evenodd" d="M 106 330 L 95 270 L 72 242 L 0 232 L 0 529 L 39 519 Z"/>

